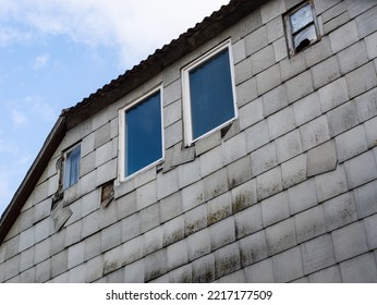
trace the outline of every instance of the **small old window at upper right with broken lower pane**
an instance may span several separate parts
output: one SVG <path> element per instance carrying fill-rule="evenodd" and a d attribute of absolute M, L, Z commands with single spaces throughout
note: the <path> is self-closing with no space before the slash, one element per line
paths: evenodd
<path fill-rule="evenodd" d="M 318 41 L 318 22 L 312 1 L 301 4 L 285 14 L 284 22 L 291 57 Z"/>

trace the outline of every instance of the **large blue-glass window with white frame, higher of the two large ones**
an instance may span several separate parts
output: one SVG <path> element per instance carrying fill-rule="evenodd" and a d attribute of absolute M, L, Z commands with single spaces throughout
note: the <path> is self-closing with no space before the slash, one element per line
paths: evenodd
<path fill-rule="evenodd" d="M 230 59 L 227 41 L 182 70 L 186 145 L 235 118 Z"/>

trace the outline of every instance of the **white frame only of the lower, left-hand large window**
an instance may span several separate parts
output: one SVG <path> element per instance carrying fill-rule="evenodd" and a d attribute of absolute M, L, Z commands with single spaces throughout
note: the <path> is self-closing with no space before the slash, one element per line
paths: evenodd
<path fill-rule="evenodd" d="M 133 179 L 135 175 L 139 174 L 143 171 L 146 171 L 153 167 L 156 167 L 157 164 L 161 163 L 165 160 L 165 135 L 163 135 L 163 90 L 162 90 L 163 86 L 162 84 L 158 85 L 157 87 L 154 87 L 153 89 L 150 89 L 149 91 L 147 91 L 146 94 L 144 94 L 143 96 L 141 96 L 139 98 L 133 100 L 132 102 L 130 102 L 129 105 L 126 105 L 125 107 L 119 109 L 118 111 L 118 118 L 119 118 L 119 148 L 118 148 L 118 168 L 119 168 L 119 173 L 118 173 L 118 182 L 124 182 L 127 181 L 130 179 Z M 130 175 L 125 175 L 125 112 L 135 107 L 137 103 L 143 102 L 145 99 L 147 99 L 148 97 L 153 96 L 154 94 L 156 94 L 157 91 L 160 93 L 160 115 L 161 115 L 161 142 L 162 142 L 162 154 L 161 154 L 161 158 L 154 161 L 153 163 L 139 169 L 138 171 L 130 174 Z"/>

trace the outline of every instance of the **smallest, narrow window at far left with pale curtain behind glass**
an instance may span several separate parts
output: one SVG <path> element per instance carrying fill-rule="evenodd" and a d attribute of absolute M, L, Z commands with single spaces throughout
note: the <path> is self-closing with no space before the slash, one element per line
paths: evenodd
<path fill-rule="evenodd" d="M 81 145 L 74 146 L 64 154 L 63 190 L 78 182 Z"/>

